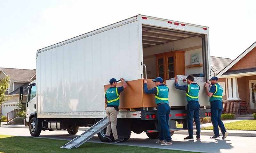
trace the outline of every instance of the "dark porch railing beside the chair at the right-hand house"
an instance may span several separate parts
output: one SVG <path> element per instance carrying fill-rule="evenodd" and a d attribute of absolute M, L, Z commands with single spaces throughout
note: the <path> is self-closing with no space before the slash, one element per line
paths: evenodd
<path fill-rule="evenodd" d="M 223 113 L 240 113 L 240 103 L 241 101 L 223 101 Z"/>

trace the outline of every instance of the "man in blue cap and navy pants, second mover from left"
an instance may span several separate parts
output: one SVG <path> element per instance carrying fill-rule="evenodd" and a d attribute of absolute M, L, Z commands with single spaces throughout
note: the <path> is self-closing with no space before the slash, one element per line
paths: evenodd
<path fill-rule="evenodd" d="M 147 79 L 144 79 L 143 86 L 146 94 L 155 94 L 158 123 L 161 127 L 161 131 L 159 132 L 159 140 L 156 143 L 160 143 L 161 145 L 172 145 L 170 127 L 168 125 L 170 114 L 170 106 L 168 101 L 169 88 L 163 84 L 163 79 L 161 77 L 157 77 L 153 81 L 155 82 L 156 87 L 148 90 Z"/>

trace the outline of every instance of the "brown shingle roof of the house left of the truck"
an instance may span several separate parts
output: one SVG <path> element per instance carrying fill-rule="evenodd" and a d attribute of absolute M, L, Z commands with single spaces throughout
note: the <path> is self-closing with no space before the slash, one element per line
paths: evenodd
<path fill-rule="evenodd" d="M 36 73 L 36 70 L 31 69 L 12 69 L 0 68 L 2 71 L 10 76 L 12 81 L 28 82 L 28 80 Z"/>

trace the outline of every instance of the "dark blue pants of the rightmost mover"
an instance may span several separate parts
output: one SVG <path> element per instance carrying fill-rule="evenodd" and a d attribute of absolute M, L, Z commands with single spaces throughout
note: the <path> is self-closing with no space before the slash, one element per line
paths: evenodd
<path fill-rule="evenodd" d="M 226 131 L 226 128 L 220 119 L 222 110 L 223 110 L 223 106 L 221 101 L 216 100 L 211 102 L 211 112 L 212 112 L 211 120 L 213 125 L 213 132 L 214 132 L 214 135 L 216 136 L 220 136 L 218 125 L 220 127 L 221 132 Z"/>

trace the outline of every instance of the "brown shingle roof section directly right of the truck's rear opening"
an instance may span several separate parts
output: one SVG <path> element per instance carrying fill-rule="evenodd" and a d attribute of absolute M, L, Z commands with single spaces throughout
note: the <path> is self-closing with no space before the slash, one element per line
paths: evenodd
<path fill-rule="evenodd" d="M 211 68 L 215 74 L 224 69 L 232 60 L 230 58 L 211 56 Z"/>

